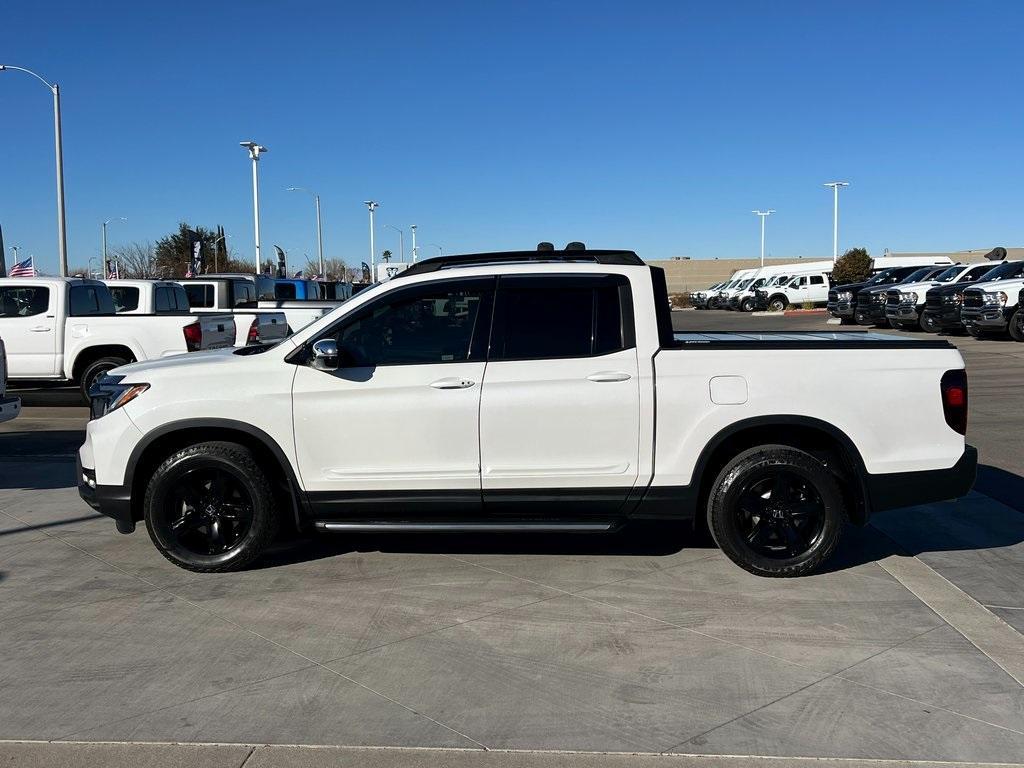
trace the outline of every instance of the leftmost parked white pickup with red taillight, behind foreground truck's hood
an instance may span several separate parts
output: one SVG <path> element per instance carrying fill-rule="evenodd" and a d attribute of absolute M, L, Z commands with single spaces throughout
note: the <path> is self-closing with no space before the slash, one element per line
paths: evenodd
<path fill-rule="evenodd" d="M 106 371 L 234 342 L 230 317 L 125 316 L 99 281 L 0 279 L 0 336 L 11 381 L 68 382 L 83 394 Z"/>

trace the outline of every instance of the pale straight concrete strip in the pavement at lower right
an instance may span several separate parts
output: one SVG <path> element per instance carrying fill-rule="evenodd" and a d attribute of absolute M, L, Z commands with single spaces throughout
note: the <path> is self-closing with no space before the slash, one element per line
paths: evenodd
<path fill-rule="evenodd" d="M 924 561 L 890 555 L 889 574 L 1024 686 L 1024 636 Z"/>

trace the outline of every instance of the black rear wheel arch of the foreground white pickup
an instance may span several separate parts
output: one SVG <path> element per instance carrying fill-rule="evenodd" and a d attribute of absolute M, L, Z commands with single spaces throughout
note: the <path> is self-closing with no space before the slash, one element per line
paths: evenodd
<path fill-rule="evenodd" d="M 785 445 L 806 452 L 831 472 L 846 497 L 850 521 L 867 521 L 867 494 L 863 460 L 850 437 L 827 422 L 803 416 L 756 417 L 723 429 L 697 459 L 693 474 L 697 485 L 694 522 L 705 518 L 705 510 L 715 479 L 722 469 L 744 451 L 761 445 Z"/>

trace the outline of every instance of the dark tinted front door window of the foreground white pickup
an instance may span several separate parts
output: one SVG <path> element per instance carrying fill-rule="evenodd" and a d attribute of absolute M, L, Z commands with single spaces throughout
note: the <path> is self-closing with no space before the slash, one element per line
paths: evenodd
<path fill-rule="evenodd" d="M 383 296 L 333 336 L 347 367 L 482 359 L 493 281 L 433 284 Z"/>

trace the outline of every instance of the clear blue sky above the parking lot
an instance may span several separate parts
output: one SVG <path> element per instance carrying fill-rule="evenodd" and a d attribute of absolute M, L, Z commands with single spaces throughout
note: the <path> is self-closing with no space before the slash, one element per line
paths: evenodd
<path fill-rule="evenodd" d="M 1024 3 L 48 2 L 0 62 L 60 83 L 71 261 L 187 219 L 252 253 L 367 258 L 361 201 L 445 252 L 648 258 L 1024 244 Z M 0 224 L 54 270 L 52 114 L 0 73 Z M 407 234 L 407 248 L 409 247 Z M 380 250 L 380 249 L 378 249 Z M 436 249 L 424 248 L 421 255 Z M 10 253 L 8 251 L 8 263 Z"/>

